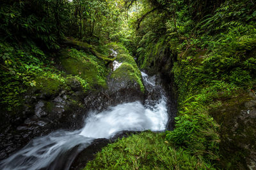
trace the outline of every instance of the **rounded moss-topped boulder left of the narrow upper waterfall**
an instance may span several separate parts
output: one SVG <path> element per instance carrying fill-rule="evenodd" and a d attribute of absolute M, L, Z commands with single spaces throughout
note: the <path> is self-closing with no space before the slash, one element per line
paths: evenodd
<path fill-rule="evenodd" d="M 112 43 L 109 48 L 117 52 L 116 61 L 120 65 L 108 78 L 109 99 L 116 98 L 113 104 L 143 101 L 145 88 L 136 62 L 124 46 Z"/>

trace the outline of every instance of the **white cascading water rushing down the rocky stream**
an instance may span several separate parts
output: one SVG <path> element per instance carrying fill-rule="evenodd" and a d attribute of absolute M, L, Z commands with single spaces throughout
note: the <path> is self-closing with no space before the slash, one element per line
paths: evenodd
<path fill-rule="evenodd" d="M 159 88 L 154 77 L 143 72 L 141 75 L 148 91 Z M 111 138 L 120 131 L 164 131 L 168 122 L 166 97 L 163 90 L 157 91 L 161 94 L 157 101 L 118 104 L 101 113 L 90 113 L 80 130 L 60 130 L 35 138 L 0 162 L 0 169 L 69 169 L 76 155 L 93 139 Z"/>

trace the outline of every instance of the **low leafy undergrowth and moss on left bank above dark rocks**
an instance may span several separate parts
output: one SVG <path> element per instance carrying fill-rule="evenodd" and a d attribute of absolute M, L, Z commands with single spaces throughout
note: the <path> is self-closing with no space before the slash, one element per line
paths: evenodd
<path fill-rule="evenodd" d="M 67 74 L 56 69 L 54 58 L 48 60 L 49 56 L 41 50 L 29 51 L 17 48 L 8 43 L 0 43 L 0 105 L 7 111 L 17 108 L 24 102 L 24 95 L 31 88 L 36 88 L 47 94 L 58 92 L 58 89 L 68 89 L 67 83 L 70 78 L 75 78 L 81 83 L 84 91 L 92 89 L 94 79 L 90 74 L 94 73 L 97 82 L 106 83 L 106 67 L 99 60 L 84 52 L 72 48 L 68 50 L 68 57 L 77 60 L 76 63 L 87 62 L 85 74 Z M 54 54 L 52 54 L 54 56 Z M 55 56 L 54 56 L 55 57 Z M 75 65 L 76 66 L 76 65 Z M 85 66 L 84 66 L 85 67 Z M 87 74 L 90 73 L 90 74 Z M 88 78 L 89 77 L 89 78 Z"/>

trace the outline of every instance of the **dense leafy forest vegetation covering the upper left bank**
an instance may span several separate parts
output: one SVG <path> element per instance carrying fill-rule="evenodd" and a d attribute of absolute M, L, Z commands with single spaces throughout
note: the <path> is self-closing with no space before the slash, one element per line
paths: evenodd
<path fill-rule="evenodd" d="M 64 81 L 56 70 L 56 59 L 67 37 L 96 45 L 98 52 L 109 55 L 104 45 L 111 41 L 110 35 L 118 32 L 118 11 L 122 10 L 111 10 L 115 5 L 114 1 L 3 1 L 0 10 L 1 108 L 7 106 L 10 111 L 13 106 L 20 106 L 20 94 L 28 87 L 35 87 L 36 78 L 40 76 Z M 108 18 L 113 22 L 108 22 Z M 71 53 L 85 55 L 76 50 Z M 92 51 L 88 54 L 92 55 Z M 86 86 L 91 82 L 81 83 Z"/>

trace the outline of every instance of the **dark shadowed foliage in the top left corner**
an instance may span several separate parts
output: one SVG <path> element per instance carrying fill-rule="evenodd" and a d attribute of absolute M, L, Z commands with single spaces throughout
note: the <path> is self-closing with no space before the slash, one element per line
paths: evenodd
<path fill-rule="evenodd" d="M 32 50 L 35 43 L 48 49 L 59 48 L 54 17 L 49 17 L 46 5 L 45 1 L 4 1 L 0 8 L 1 38 L 15 44 L 24 43 L 22 46 Z"/>

